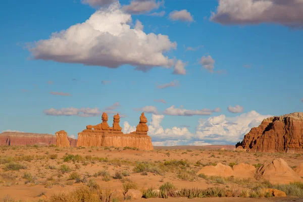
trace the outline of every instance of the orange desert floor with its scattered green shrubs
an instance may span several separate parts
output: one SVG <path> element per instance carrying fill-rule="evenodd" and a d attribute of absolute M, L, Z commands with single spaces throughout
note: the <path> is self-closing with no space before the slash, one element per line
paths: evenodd
<path fill-rule="evenodd" d="M 224 147 L 224 146 L 220 146 Z M 226 146 L 228 149 L 232 147 Z M 98 185 L 121 190 L 127 183 L 138 190 L 159 189 L 171 182 L 177 189 L 228 188 L 233 192 L 260 185 L 255 179 L 205 179 L 195 173 L 207 165 L 246 163 L 259 167 L 275 158 L 290 167 L 303 162 L 303 155 L 284 153 L 239 153 L 217 147 L 155 147 L 153 151 L 115 147 L 0 146 L 0 199 L 44 201 L 53 194 L 77 187 Z M 138 201 L 301 201 L 299 198 L 149 198 Z M 12 200 L 13 201 L 13 200 Z"/>

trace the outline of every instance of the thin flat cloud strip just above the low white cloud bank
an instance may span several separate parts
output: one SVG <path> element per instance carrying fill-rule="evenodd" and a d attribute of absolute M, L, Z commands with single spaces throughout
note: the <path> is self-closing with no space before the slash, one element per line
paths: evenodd
<path fill-rule="evenodd" d="M 186 110 L 183 109 L 182 106 L 180 108 L 175 108 L 175 106 L 171 106 L 164 111 L 164 114 L 170 116 L 193 116 L 193 115 L 211 115 L 213 112 L 220 112 L 220 108 L 216 108 L 215 110 L 210 109 L 201 109 L 201 110 Z"/>

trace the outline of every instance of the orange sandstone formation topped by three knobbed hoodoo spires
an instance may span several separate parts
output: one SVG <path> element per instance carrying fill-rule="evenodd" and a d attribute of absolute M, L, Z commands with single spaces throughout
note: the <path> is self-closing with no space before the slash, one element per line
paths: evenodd
<path fill-rule="evenodd" d="M 135 132 L 123 134 L 119 125 L 119 114 L 114 116 L 113 127 L 107 123 L 108 115 L 103 113 L 102 123 L 86 126 L 82 132 L 78 133 L 77 146 L 115 146 L 115 147 L 136 147 L 143 150 L 153 150 L 151 138 L 147 135 L 147 119 L 144 113 L 141 114 L 140 122 Z"/>

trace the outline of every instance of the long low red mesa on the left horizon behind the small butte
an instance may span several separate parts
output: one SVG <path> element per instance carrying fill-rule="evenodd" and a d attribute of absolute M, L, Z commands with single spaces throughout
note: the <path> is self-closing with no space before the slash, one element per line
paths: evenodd
<path fill-rule="evenodd" d="M 68 137 L 71 146 L 77 145 L 77 140 Z M 57 138 L 51 134 L 3 132 L 0 133 L 0 145 L 56 145 Z"/>

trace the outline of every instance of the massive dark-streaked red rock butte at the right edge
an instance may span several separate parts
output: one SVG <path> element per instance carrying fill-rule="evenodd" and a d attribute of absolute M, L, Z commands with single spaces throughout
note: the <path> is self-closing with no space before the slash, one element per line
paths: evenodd
<path fill-rule="evenodd" d="M 248 151 L 303 153 L 303 113 L 295 112 L 264 119 L 244 136 L 241 145 Z"/>

